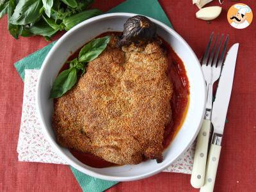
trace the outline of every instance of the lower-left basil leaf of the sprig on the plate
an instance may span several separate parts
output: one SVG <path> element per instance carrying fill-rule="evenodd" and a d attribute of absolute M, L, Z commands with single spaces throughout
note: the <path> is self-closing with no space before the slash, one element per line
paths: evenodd
<path fill-rule="evenodd" d="M 52 84 L 51 98 L 61 97 L 70 90 L 77 81 L 77 69 L 75 67 L 63 70 Z"/>

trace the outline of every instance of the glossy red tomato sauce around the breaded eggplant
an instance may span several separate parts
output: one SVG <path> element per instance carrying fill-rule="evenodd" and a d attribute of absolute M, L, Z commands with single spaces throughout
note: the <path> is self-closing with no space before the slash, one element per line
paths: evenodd
<path fill-rule="evenodd" d="M 121 32 L 106 32 L 102 33 L 101 36 L 109 34 L 121 35 Z M 184 63 L 180 60 L 179 56 L 173 51 L 172 47 L 165 42 L 163 39 L 163 49 L 166 50 L 168 56 L 168 77 L 173 83 L 173 95 L 171 100 L 172 106 L 172 122 L 168 124 L 164 130 L 164 141 L 163 146 L 167 148 L 173 140 L 175 134 L 180 129 L 184 118 L 186 116 L 188 104 L 189 104 L 189 81 L 186 75 L 186 69 Z M 77 58 L 80 49 L 74 52 L 67 61 L 71 61 Z M 68 68 L 68 63 L 65 63 L 61 68 L 60 72 Z M 76 157 L 81 163 L 87 164 L 94 168 L 105 168 L 109 166 L 116 166 L 115 163 L 109 163 L 100 157 L 94 156 L 93 154 L 79 152 L 77 150 L 70 149 L 71 154 Z"/>

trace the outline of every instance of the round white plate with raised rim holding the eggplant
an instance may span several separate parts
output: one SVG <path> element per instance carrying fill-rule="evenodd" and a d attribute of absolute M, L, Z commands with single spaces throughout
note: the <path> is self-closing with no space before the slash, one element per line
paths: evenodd
<path fill-rule="evenodd" d="M 58 75 L 63 63 L 70 56 L 71 52 L 82 47 L 86 42 L 95 36 L 106 31 L 122 31 L 124 22 L 134 16 L 131 13 L 109 13 L 93 17 L 81 22 L 70 29 L 56 42 L 47 55 L 40 70 L 38 85 L 36 89 L 36 107 L 42 129 L 47 140 L 51 143 L 56 152 L 68 164 L 77 170 L 106 180 L 138 180 L 161 172 L 177 159 L 195 140 L 196 134 L 202 124 L 205 107 L 205 81 L 201 71 L 200 63 L 185 40 L 173 29 L 162 22 L 151 19 L 157 26 L 157 35 L 168 42 L 173 50 L 178 54 L 186 68 L 190 84 L 190 102 L 188 113 L 184 124 L 180 128 L 177 136 L 163 154 L 163 162 L 156 163 L 156 160 L 148 160 L 136 165 L 113 166 L 109 168 L 92 168 L 78 161 L 67 148 L 63 148 L 54 136 L 51 127 L 51 115 L 53 109 L 52 99 L 49 99 L 52 82 Z"/>

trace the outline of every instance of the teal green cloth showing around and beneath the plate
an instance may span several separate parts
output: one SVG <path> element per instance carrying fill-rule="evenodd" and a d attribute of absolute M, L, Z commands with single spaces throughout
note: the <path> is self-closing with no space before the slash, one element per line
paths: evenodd
<path fill-rule="evenodd" d="M 128 12 L 128 13 L 136 13 L 140 15 L 146 15 L 148 17 L 152 17 L 154 19 L 160 20 L 164 24 L 172 27 L 170 20 L 165 15 L 163 9 L 161 8 L 160 4 L 157 0 L 127 0 L 124 3 L 119 4 L 112 10 L 109 10 L 108 13 L 113 12 Z M 52 46 L 55 42 L 47 45 L 43 49 L 40 49 L 33 54 L 30 54 L 26 58 L 23 58 L 20 61 L 17 61 L 14 66 L 19 72 L 20 77 L 24 81 L 24 70 L 25 69 L 35 69 L 40 68 L 45 56 L 50 51 Z M 74 176 L 76 177 L 77 182 L 83 189 L 83 191 L 90 191 L 90 192 L 100 192 L 104 191 L 111 186 L 115 185 L 118 182 L 115 181 L 108 181 L 102 179 L 96 179 L 94 177 L 90 177 L 82 172 L 79 172 L 75 168 L 70 166 Z"/>

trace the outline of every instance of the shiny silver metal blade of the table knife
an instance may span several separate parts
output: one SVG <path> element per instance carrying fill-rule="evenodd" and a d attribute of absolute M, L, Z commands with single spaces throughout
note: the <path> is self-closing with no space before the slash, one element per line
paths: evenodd
<path fill-rule="evenodd" d="M 239 44 L 234 44 L 227 52 L 226 60 L 221 70 L 220 81 L 216 92 L 216 99 L 212 104 L 212 125 L 214 132 L 223 134 L 225 120 L 228 111 L 234 72 L 236 67 L 236 58 Z"/>

